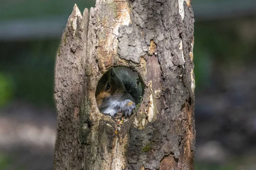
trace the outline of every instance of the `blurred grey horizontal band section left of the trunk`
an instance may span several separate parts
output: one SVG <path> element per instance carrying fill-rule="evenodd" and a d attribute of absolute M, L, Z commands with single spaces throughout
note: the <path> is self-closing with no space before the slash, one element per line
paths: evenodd
<path fill-rule="evenodd" d="M 0 22 L 0 40 L 61 38 L 68 16 Z"/>

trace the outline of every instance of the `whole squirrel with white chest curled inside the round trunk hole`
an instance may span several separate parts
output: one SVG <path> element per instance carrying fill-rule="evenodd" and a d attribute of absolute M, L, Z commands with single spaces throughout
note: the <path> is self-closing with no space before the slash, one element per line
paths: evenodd
<path fill-rule="evenodd" d="M 101 113 L 130 117 L 142 96 L 138 75 L 125 67 L 112 68 L 99 80 L 96 102 Z"/>

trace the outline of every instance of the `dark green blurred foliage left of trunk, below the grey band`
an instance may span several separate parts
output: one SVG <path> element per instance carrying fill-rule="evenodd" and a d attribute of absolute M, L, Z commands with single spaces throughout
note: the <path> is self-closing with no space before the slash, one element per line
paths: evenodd
<path fill-rule="evenodd" d="M 0 72 L 12 77 L 15 98 L 54 105 L 54 63 L 59 41 L 0 43 Z"/>

